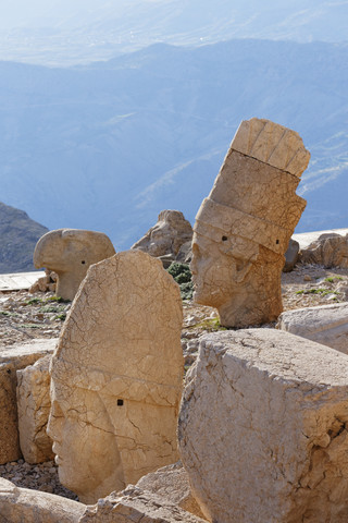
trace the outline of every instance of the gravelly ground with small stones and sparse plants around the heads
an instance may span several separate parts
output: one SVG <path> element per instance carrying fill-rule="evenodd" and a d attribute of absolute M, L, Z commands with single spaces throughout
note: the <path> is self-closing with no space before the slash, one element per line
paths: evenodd
<path fill-rule="evenodd" d="M 345 302 L 348 299 L 348 269 L 299 264 L 294 271 L 283 273 L 282 293 L 285 311 Z M 34 338 L 57 338 L 70 307 L 71 303 L 57 300 L 53 293 L 0 293 L 0 351 Z M 198 338 L 219 328 L 215 309 L 195 305 L 191 301 L 184 302 L 182 342 L 186 367 L 195 361 Z M 21 487 L 77 499 L 59 483 L 53 462 L 29 465 L 18 460 L 0 465 L 0 476 Z"/>

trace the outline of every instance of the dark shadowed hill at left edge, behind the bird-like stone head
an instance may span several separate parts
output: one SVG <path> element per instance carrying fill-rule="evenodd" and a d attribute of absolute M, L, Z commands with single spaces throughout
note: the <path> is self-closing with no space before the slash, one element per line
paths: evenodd
<path fill-rule="evenodd" d="M 33 253 L 38 239 L 48 229 L 26 212 L 0 202 L 0 273 L 34 269 Z"/>

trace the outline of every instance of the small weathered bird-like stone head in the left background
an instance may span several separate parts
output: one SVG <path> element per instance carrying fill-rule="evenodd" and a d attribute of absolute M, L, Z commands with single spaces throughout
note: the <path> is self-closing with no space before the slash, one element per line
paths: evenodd
<path fill-rule="evenodd" d="M 88 267 L 114 254 L 111 241 L 102 232 L 57 229 L 37 242 L 34 265 L 53 270 L 58 275 L 57 295 L 73 300 Z"/>

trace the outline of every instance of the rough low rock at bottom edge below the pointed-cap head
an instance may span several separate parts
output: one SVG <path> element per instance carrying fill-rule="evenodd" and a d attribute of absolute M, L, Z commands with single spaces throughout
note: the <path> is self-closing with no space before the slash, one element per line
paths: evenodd
<path fill-rule="evenodd" d="M 87 507 L 79 523 L 207 523 L 160 496 L 129 485 Z"/>

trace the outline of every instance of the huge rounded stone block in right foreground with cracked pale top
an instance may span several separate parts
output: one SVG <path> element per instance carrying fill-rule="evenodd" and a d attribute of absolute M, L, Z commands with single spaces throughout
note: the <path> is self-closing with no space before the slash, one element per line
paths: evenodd
<path fill-rule="evenodd" d="M 201 338 L 178 438 L 207 518 L 347 521 L 347 362 L 338 351 L 274 329 Z"/>

